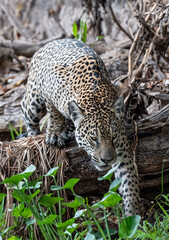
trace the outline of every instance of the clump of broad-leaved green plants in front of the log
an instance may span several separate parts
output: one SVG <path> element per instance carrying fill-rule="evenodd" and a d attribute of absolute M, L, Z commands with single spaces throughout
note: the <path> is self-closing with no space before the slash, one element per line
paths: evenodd
<path fill-rule="evenodd" d="M 58 186 L 55 175 L 59 167 L 54 167 L 50 171 L 34 181 L 29 181 L 29 177 L 36 170 L 34 165 L 30 165 L 24 172 L 6 178 L 2 183 L 7 185 L 7 188 L 12 189 L 12 196 L 19 204 L 12 209 L 13 217 L 17 220 L 21 219 L 25 222 L 28 230 L 29 239 L 34 239 L 33 225 L 37 224 L 44 239 L 111 239 L 111 236 L 117 234 L 115 229 L 109 227 L 107 209 L 111 208 L 118 213 L 116 209 L 119 208 L 121 196 L 116 193 L 120 184 L 120 180 L 114 180 L 109 191 L 103 198 L 93 205 L 89 205 L 87 200 L 77 195 L 74 191 L 74 186 L 79 179 L 69 179 L 64 186 Z M 111 179 L 115 169 L 109 171 L 102 179 Z M 42 194 L 40 186 L 42 178 L 53 178 L 55 185 L 51 186 L 51 193 Z M 60 196 L 60 190 L 69 189 L 74 200 L 65 202 L 64 198 Z M 53 196 L 53 192 L 57 196 Z M 1 195 L 0 195 L 1 197 Z M 3 198 L 5 195 L 3 195 Z M 63 220 L 65 214 L 65 207 L 73 210 L 73 217 L 68 220 Z M 122 210 L 121 210 L 122 211 Z M 101 214 L 101 217 L 100 217 Z M 124 214 L 124 213 L 123 213 Z M 131 216 L 119 219 L 119 237 L 127 239 L 134 235 L 137 226 L 140 222 L 140 216 Z M 103 227 L 104 226 L 104 227 Z M 16 224 L 11 228 L 15 228 Z M 7 236 L 9 239 L 22 239 L 18 236 L 12 236 L 11 229 L 3 229 L 0 236 L 2 238 Z"/>

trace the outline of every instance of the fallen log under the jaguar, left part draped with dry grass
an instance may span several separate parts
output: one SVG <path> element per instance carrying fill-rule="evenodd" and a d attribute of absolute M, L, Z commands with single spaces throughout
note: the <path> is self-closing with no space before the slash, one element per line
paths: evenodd
<path fill-rule="evenodd" d="M 145 189 L 149 189 L 149 194 L 151 188 L 161 186 L 162 168 L 163 183 L 169 183 L 168 116 L 169 105 L 156 114 L 138 121 L 135 126 L 126 125 L 131 152 L 138 166 L 140 189 L 144 197 Z M 77 147 L 73 135 L 67 148 L 62 150 L 46 145 L 44 138 L 44 135 L 39 135 L 1 142 L 0 179 L 3 181 L 4 178 L 25 170 L 31 163 L 37 168 L 34 178 L 46 174 L 50 168 L 61 164 L 59 184 L 75 177 L 81 179 L 75 189 L 78 194 L 98 196 L 106 192 L 109 183 L 97 180 L 104 172 L 98 172 L 90 165 L 89 157 L 85 151 Z M 45 191 L 48 192 L 47 182 L 45 186 Z"/>

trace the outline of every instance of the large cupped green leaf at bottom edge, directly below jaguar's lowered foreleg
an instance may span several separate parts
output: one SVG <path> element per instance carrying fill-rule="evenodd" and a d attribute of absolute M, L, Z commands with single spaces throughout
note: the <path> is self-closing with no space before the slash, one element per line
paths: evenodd
<path fill-rule="evenodd" d="M 140 223 L 141 217 L 139 215 L 129 216 L 122 220 L 119 224 L 119 237 L 122 239 L 131 238 Z"/>

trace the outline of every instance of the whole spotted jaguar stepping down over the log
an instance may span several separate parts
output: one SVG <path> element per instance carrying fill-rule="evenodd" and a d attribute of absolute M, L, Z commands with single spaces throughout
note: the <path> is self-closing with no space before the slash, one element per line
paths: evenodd
<path fill-rule="evenodd" d="M 92 49 L 80 41 L 65 39 L 37 51 L 21 105 L 29 136 L 39 134 L 39 121 L 47 111 L 47 143 L 64 146 L 65 119 L 70 119 L 79 147 L 91 156 L 98 170 L 120 162 L 115 177 L 122 179 L 125 214 L 139 212 L 138 176 L 122 120 L 123 102 L 103 61 Z"/>

